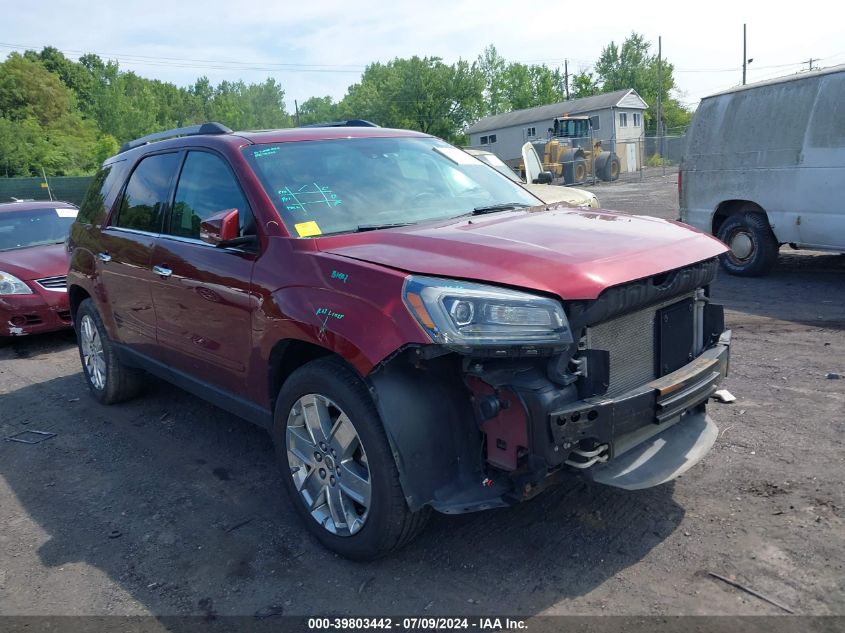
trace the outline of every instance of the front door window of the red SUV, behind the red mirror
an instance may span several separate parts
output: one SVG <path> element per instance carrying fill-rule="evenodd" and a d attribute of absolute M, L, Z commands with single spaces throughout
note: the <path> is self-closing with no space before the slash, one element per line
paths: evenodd
<path fill-rule="evenodd" d="M 227 209 L 238 210 L 243 231 L 250 212 L 232 170 L 215 154 L 188 152 L 167 232 L 199 239 L 202 221 Z"/>

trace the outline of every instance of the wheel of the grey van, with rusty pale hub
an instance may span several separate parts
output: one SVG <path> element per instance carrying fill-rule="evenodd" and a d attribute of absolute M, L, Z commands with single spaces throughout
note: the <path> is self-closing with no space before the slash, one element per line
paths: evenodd
<path fill-rule="evenodd" d="M 732 275 L 765 275 L 777 262 L 780 245 L 764 213 L 741 211 L 730 216 L 719 228 L 718 237 L 731 249 L 719 259 Z"/>

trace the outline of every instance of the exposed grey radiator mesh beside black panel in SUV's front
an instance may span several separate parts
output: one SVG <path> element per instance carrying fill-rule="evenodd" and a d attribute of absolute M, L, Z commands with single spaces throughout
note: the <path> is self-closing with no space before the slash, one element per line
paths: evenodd
<path fill-rule="evenodd" d="M 657 311 L 691 296 L 673 297 L 587 328 L 587 348 L 610 352 L 607 397 L 616 397 L 657 378 Z"/>

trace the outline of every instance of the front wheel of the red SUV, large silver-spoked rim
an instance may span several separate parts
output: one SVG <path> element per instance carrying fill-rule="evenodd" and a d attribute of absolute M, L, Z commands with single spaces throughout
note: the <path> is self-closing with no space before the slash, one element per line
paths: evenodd
<path fill-rule="evenodd" d="M 285 381 L 273 441 L 292 503 L 330 550 L 372 560 L 425 527 L 431 509 L 408 508 L 373 399 L 341 362 L 317 359 Z"/>

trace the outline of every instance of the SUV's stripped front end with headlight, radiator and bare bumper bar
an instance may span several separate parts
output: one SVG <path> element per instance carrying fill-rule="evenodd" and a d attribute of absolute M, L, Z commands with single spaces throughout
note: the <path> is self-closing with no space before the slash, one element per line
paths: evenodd
<path fill-rule="evenodd" d="M 369 378 L 410 507 L 508 505 L 577 472 L 644 488 L 699 461 L 715 440 L 705 403 L 728 372 L 716 266 L 566 304 L 410 277 L 406 305 L 434 344 Z"/>

